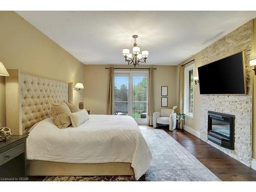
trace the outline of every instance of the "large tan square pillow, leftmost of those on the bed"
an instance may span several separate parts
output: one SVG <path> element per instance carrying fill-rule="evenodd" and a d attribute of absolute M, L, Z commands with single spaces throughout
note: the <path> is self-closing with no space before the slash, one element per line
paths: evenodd
<path fill-rule="evenodd" d="M 60 104 L 50 102 L 50 104 L 54 124 L 60 129 L 68 127 L 71 124 L 71 111 L 68 105 L 65 102 L 61 102 Z"/>

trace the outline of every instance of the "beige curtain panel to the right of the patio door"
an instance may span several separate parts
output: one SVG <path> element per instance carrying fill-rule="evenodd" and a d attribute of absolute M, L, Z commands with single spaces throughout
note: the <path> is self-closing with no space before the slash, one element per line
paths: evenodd
<path fill-rule="evenodd" d="M 153 113 L 154 113 L 154 86 L 153 77 L 154 69 L 150 68 L 148 75 L 148 103 L 147 103 L 147 123 L 153 125 Z"/>

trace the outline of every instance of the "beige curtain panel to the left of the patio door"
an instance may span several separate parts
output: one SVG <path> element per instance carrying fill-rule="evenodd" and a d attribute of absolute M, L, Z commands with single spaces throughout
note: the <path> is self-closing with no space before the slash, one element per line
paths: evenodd
<path fill-rule="evenodd" d="M 106 114 L 113 115 L 114 114 L 114 68 L 111 67 L 109 71 L 109 86 L 108 86 L 108 106 L 106 108 Z"/>

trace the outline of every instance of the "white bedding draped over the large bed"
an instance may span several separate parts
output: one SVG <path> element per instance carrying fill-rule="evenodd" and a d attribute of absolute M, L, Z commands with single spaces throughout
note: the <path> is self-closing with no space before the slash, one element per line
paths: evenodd
<path fill-rule="evenodd" d="M 130 116 L 90 115 L 78 127 L 58 129 L 52 118 L 29 133 L 27 158 L 67 163 L 132 163 L 138 180 L 152 155 L 139 126 Z"/>

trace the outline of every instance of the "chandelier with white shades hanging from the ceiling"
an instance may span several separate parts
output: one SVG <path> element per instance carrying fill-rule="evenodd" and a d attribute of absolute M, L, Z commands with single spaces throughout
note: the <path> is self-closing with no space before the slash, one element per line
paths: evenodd
<path fill-rule="evenodd" d="M 133 35 L 134 44 L 133 44 L 133 54 L 130 53 L 130 49 L 123 49 L 123 56 L 125 62 L 128 62 L 128 65 L 132 64 L 134 67 L 139 66 L 140 63 L 146 63 L 146 58 L 148 57 L 148 51 L 144 50 L 140 53 L 140 47 L 136 44 L 136 38 L 138 35 Z"/>

